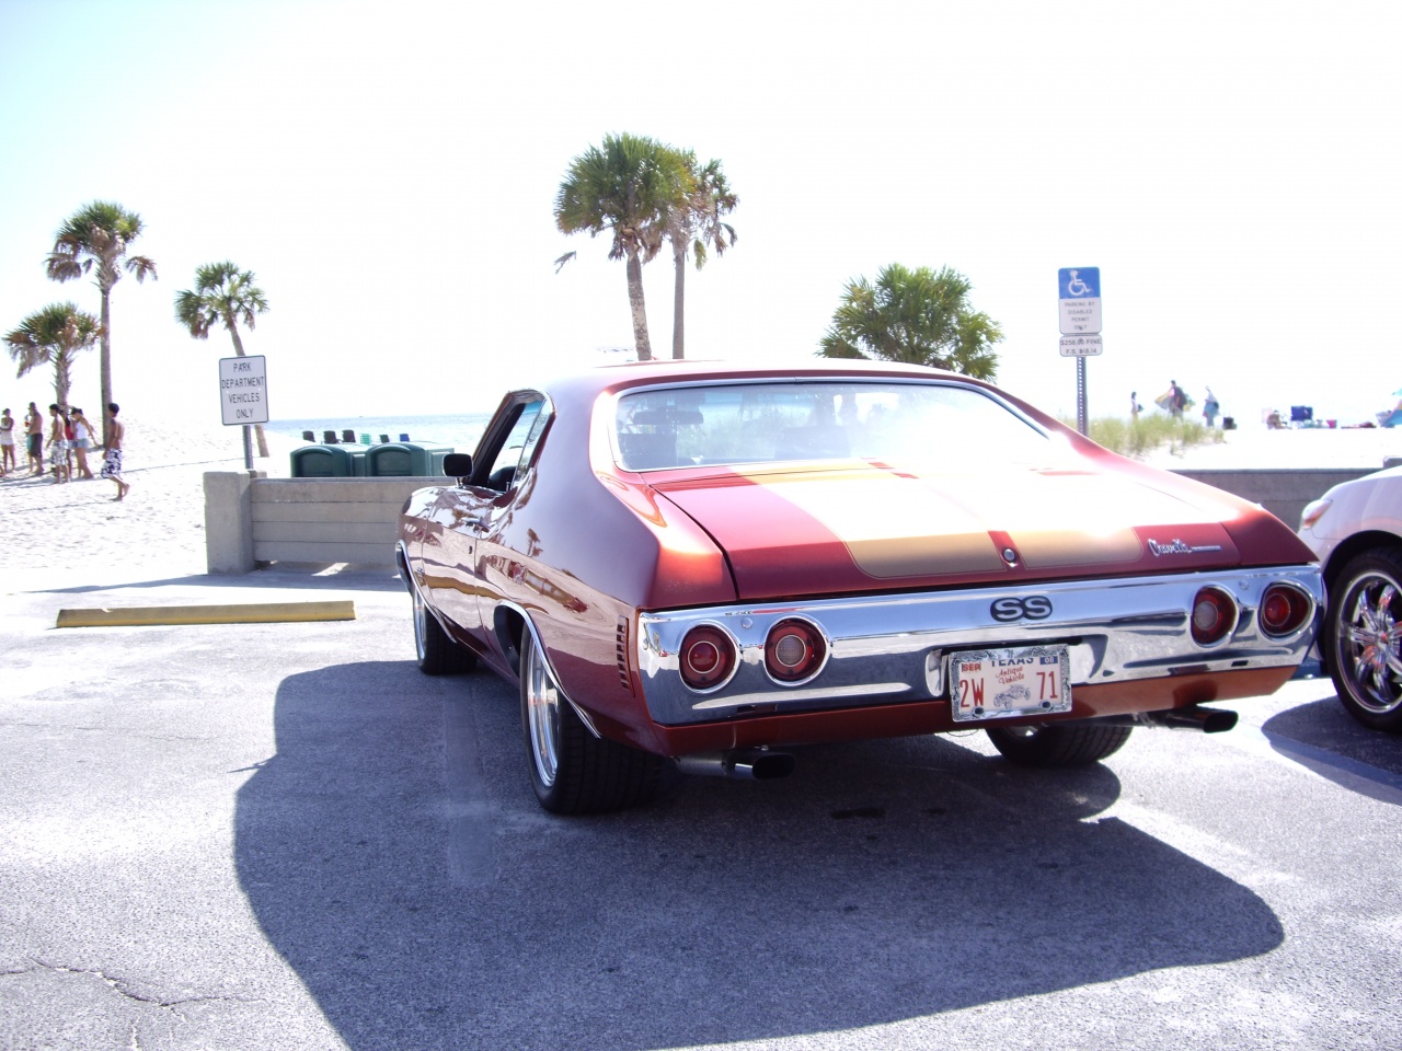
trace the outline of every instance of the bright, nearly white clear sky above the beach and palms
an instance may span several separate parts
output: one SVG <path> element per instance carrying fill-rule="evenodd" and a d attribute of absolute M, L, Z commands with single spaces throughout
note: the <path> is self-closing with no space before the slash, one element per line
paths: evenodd
<path fill-rule="evenodd" d="M 624 268 L 551 206 L 610 132 L 723 163 L 739 242 L 687 279 L 688 357 L 808 360 L 843 286 L 952 266 L 998 381 L 1075 412 L 1056 275 L 1099 266 L 1092 416 L 1171 378 L 1228 415 L 1359 422 L 1402 388 L 1395 3 L 0 0 L 0 331 L 90 200 L 160 279 L 112 296 L 130 413 L 219 419 L 223 331 L 174 297 L 231 259 L 272 304 L 272 416 L 474 412 L 631 346 Z M 552 261 L 579 256 L 555 272 Z M 645 268 L 655 349 L 672 265 Z M 0 404 L 53 398 L 0 370 Z M 97 409 L 97 355 L 76 370 Z"/>

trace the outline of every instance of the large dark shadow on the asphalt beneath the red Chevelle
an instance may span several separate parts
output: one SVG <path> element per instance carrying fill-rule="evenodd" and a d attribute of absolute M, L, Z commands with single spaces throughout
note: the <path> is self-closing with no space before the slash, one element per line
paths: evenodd
<path fill-rule="evenodd" d="M 280 684 L 238 876 L 355 1051 L 823 1033 L 1283 940 L 1248 888 L 1096 818 L 1120 793 L 1103 765 L 808 747 L 782 782 L 677 778 L 649 807 L 557 818 L 524 764 L 513 691 L 485 674 L 367 661 Z"/>

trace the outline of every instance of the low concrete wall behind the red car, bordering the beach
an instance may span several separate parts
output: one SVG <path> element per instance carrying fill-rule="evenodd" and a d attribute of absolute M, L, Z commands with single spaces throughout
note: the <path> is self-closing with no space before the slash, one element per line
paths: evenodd
<path fill-rule="evenodd" d="M 1305 504 L 1370 471 L 1176 471 L 1262 504 L 1298 528 Z M 446 478 L 264 478 L 205 475 L 205 542 L 210 573 L 248 573 L 259 562 L 394 565 L 405 497 Z"/>

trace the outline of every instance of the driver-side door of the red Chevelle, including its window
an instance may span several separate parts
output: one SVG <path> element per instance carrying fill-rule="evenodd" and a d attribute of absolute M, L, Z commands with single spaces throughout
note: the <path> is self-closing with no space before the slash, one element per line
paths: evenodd
<path fill-rule="evenodd" d="M 488 586 L 486 575 L 489 561 L 501 561 L 501 526 L 509 520 L 520 475 L 548 418 L 545 406 L 540 394 L 512 395 L 478 446 L 471 478 L 444 489 L 433 509 L 433 521 L 442 526 L 435 603 L 471 636 L 475 650 L 513 673 L 515 652 L 503 652 L 492 633 L 501 591 Z"/>

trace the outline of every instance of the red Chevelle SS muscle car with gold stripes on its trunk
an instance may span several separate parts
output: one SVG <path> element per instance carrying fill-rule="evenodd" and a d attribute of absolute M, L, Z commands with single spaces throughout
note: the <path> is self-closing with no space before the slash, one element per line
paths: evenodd
<path fill-rule="evenodd" d="M 1274 691 L 1314 555 L 1260 507 L 916 366 L 651 362 L 509 394 L 404 507 L 419 667 L 519 682 L 541 804 L 631 806 L 665 764 L 984 729 L 1098 761 Z"/>

